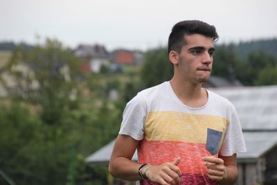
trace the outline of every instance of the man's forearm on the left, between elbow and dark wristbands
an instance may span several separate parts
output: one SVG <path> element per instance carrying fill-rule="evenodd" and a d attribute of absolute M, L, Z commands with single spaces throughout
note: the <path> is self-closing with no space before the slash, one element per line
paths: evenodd
<path fill-rule="evenodd" d="M 109 173 L 116 178 L 137 181 L 141 179 L 139 176 L 141 165 L 125 157 L 116 157 L 109 162 Z"/>

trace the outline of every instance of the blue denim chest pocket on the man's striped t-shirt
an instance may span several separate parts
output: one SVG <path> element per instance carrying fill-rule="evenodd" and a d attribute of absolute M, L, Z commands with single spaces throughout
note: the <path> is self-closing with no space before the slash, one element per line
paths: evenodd
<path fill-rule="evenodd" d="M 208 150 L 211 155 L 215 155 L 218 152 L 221 138 L 222 132 L 211 128 L 207 129 L 206 150 Z"/>

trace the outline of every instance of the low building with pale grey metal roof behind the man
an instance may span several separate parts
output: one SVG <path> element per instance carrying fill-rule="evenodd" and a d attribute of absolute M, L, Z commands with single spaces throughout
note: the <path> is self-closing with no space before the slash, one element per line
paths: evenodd
<path fill-rule="evenodd" d="M 211 91 L 229 99 L 240 117 L 247 152 L 238 154 L 237 184 L 277 184 L 277 85 Z M 87 163 L 107 166 L 113 146 L 111 141 L 87 157 Z"/>

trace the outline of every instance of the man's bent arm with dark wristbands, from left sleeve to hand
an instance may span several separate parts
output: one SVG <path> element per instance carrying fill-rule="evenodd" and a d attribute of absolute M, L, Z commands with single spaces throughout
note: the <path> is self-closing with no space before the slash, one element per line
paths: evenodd
<path fill-rule="evenodd" d="M 109 161 L 109 173 L 111 175 L 129 181 L 142 179 L 139 175 L 139 167 L 142 164 L 132 161 L 132 156 L 138 145 L 139 141 L 136 141 L 131 136 L 118 134 Z M 179 184 L 181 171 L 177 165 L 180 160 L 180 158 L 177 158 L 172 162 L 166 162 L 158 166 L 149 164 L 142 169 L 141 173 L 152 182 Z"/>

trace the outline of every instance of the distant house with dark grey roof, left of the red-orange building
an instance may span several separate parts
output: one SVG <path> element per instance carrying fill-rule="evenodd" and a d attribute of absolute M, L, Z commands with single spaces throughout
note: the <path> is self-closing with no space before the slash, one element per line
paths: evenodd
<path fill-rule="evenodd" d="M 80 44 L 74 53 L 83 61 L 80 64 L 82 71 L 98 73 L 102 65 L 107 64 L 109 61 L 109 53 L 105 46 L 99 44 Z"/>

